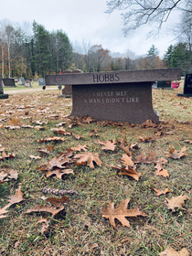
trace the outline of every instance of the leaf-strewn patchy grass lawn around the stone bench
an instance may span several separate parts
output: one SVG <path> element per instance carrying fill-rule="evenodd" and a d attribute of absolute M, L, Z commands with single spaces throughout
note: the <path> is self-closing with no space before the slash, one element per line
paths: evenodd
<path fill-rule="evenodd" d="M 15 89 L 12 89 L 15 90 Z M 6 91 L 6 90 L 5 90 Z M 0 159 L 5 154 L 15 154 L 0 160 L 1 170 L 17 171 L 17 178 L 0 184 L 0 254 L 1 255 L 158 255 L 171 246 L 175 251 L 186 248 L 192 251 L 192 98 L 176 97 L 177 90 L 153 90 L 154 108 L 160 114 L 161 123 L 156 128 L 143 128 L 141 124 L 90 122 L 89 119 L 72 120 L 67 118 L 71 112 L 71 99 L 58 98 L 58 91 L 40 91 L 26 94 L 9 95 L 0 101 Z M 104 111 L 104 109 L 103 109 Z M 86 123 L 87 121 L 87 123 Z M 44 123 L 43 123 L 44 122 Z M 56 126 L 63 123 L 63 126 Z M 22 125 L 33 127 L 24 128 Z M 36 127 L 40 126 L 40 127 Z M 36 127 L 36 128 L 35 128 Z M 44 127 L 44 128 L 42 128 Z M 163 127 L 163 128 L 162 128 Z M 55 134 L 51 129 L 66 129 L 70 135 Z M 42 129 L 42 130 L 38 130 Z M 162 131 L 162 133 L 158 133 Z M 82 135 L 78 140 L 74 134 Z M 42 141 L 50 136 L 65 138 L 65 141 Z M 139 137 L 152 137 L 154 140 L 140 142 Z M 125 154 L 117 145 L 114 151 L 102 150 L 96 140 L 123 140 L 127 144 L 137 144 L 133 149 L 133 161 L 138 155 L 155 152 L 156 158 L 164 157 L 164 165 L 169 177 L 155 175 L 155 163 L 136 166 L 142 173 L 136 181 L 130 176 L 120 176 L 111 165 L 122 165 Z M 187 140 L 187 141 L 186 141 Z M 70 165 L 73 174 L 65 174 L 62 179 L 46 176 L 47 171 L 37 169 L 46 165 L 50 159 L 65 153 L 77 145 L 87 145 L 87 152 L 98 154 L 102 165 Z M 54 145 L 49 155 L 38 150 Z M 178 159 L 169 158 L 169 146 L 176 151 L 187 147 Z M 73 155 L 85 152 L 74 151 Z M 29 155 L 40 156 L 31 159 Z M 4 179 L 4 177 L 2 177 Z M 8 204 L 8 197 L 16 195 L 21 187 L 24 200 L 6 208 L 6 218 L 1 209 Z M 48 212 L 32 212 L 35 206 L 51 207 L 43 188 L 75 190 L 78 194 L 68 194 L 69 203 L 54 216 L 48 229 L 41 232 L 44 222 L 50 219 Z M 154 189 L 169 193 L 155 196 Z M 165 206 L 168 199 L 187 195 L 183 208 L 175 211 Z M 118 208 L 123 199 L 129 198 L 129 209 L 138 206 L 145 217 L 126 218 L 130 228 L 115 219 L 116 229 L 109 219 L 102 217 L 102 210 L 110 201 Z M 2 219 L 1 219 L 2 218 Z"/>

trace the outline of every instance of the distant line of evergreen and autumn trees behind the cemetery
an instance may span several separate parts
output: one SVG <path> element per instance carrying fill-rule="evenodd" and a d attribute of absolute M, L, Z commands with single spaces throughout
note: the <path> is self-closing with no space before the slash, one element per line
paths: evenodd
<path fill-rule="evenodd" d="M 2 78 L 44 78 L 65 69 L 99 72 L 126 69 L 181 68 L 182 75 L 192 71 L 191 45 L 178 41 L 168 46 L 163 59 L 152 45 L 144 56 L 127 51 L 112 54 L 101 45 L 87 41 L 71 44 L 63 30 L 48 32 L 43 25 L 13 25 L 0 21 L 0 76 Z"/>

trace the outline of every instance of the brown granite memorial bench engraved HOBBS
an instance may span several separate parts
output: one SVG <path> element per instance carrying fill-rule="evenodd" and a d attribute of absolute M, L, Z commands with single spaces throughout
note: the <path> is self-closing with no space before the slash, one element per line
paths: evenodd
<path fill-rule="evenodd" d="M 180 80 L 180 69 L 139 69 L 98 73 L 47 75 L 47 85 L 72 85 L 72 112 L 97 120 L 159 123 L 153 109 L 152 84 Z"/>

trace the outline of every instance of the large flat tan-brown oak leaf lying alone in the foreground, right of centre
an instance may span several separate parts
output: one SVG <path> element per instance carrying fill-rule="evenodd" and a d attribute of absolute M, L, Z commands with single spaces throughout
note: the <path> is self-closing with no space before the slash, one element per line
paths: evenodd
<path fill-rule="evenodd" d="M 127 205 L 129 201 L 129 198 L 122 200 L 118 208 L 114 208 L 114 203 L 109 202 L 109 207 L 105 205 L 105 208 L 103 208 L 102 217 L 110 219 L 110 222 L 114 229 L 116 228 L 114 219 L 118 219 L 123 224 L 123 227 L 126 226 L 130 228 L 129 221 L 125 219 L 125 217 L 146 216 L 144 212 L 138 207 L 128 209 Z"/>

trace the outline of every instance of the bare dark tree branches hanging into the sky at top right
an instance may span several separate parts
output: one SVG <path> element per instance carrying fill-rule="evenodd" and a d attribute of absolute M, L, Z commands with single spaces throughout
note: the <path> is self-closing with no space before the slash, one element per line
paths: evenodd
<path fill-rule="evenodd" d="M 122 11 L 125 36 L 144 24 L 152 25 L 158 32 L 173 10 L 183 9 L 192 16 L 184 7 L 188 2 L 191 0 L 110 0 L 106 2 L 106 13 L 111 14 L 116 9 Z"/>

